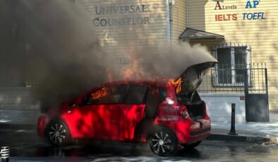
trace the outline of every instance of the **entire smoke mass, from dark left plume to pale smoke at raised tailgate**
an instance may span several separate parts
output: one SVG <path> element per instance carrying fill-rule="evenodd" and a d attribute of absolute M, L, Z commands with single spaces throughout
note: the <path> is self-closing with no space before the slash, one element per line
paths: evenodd
<path fill-rule="evenodd" d="M 20 54 L 11 49 L 1 51 L 1 59 L 13 75 L 32 82 L 34 96 L 42 108 L 59 104 L 96 85 L 114 80 L 159 80 L 179 77 L 188 66 L 214 58 L 205 47 L 189 44 L 147 46 L 135 49 L 124 68 L 111 62 L 99 46 L 91 20 L 77 3 L 54 0 L 13 1 L 15 29 L 23 30 Z M 1 2 L 1 17 L 8 20 L 10 1 Z M 9 25 L 1 24 L 2 31 Z M 12 23 L 11 23 L 12 24 Z M 124 29 L 123 29 L 124 30 Z M 6 36 L 8 38 L 8 35 Z M 17 39 L 16 37 L 14 39 Z M 13 41 L 14 42 L 14 41 Z M 9 44 L 4 38 L 1 45 Z M 177 78 L 173 78 L 177 79 Z"/>

